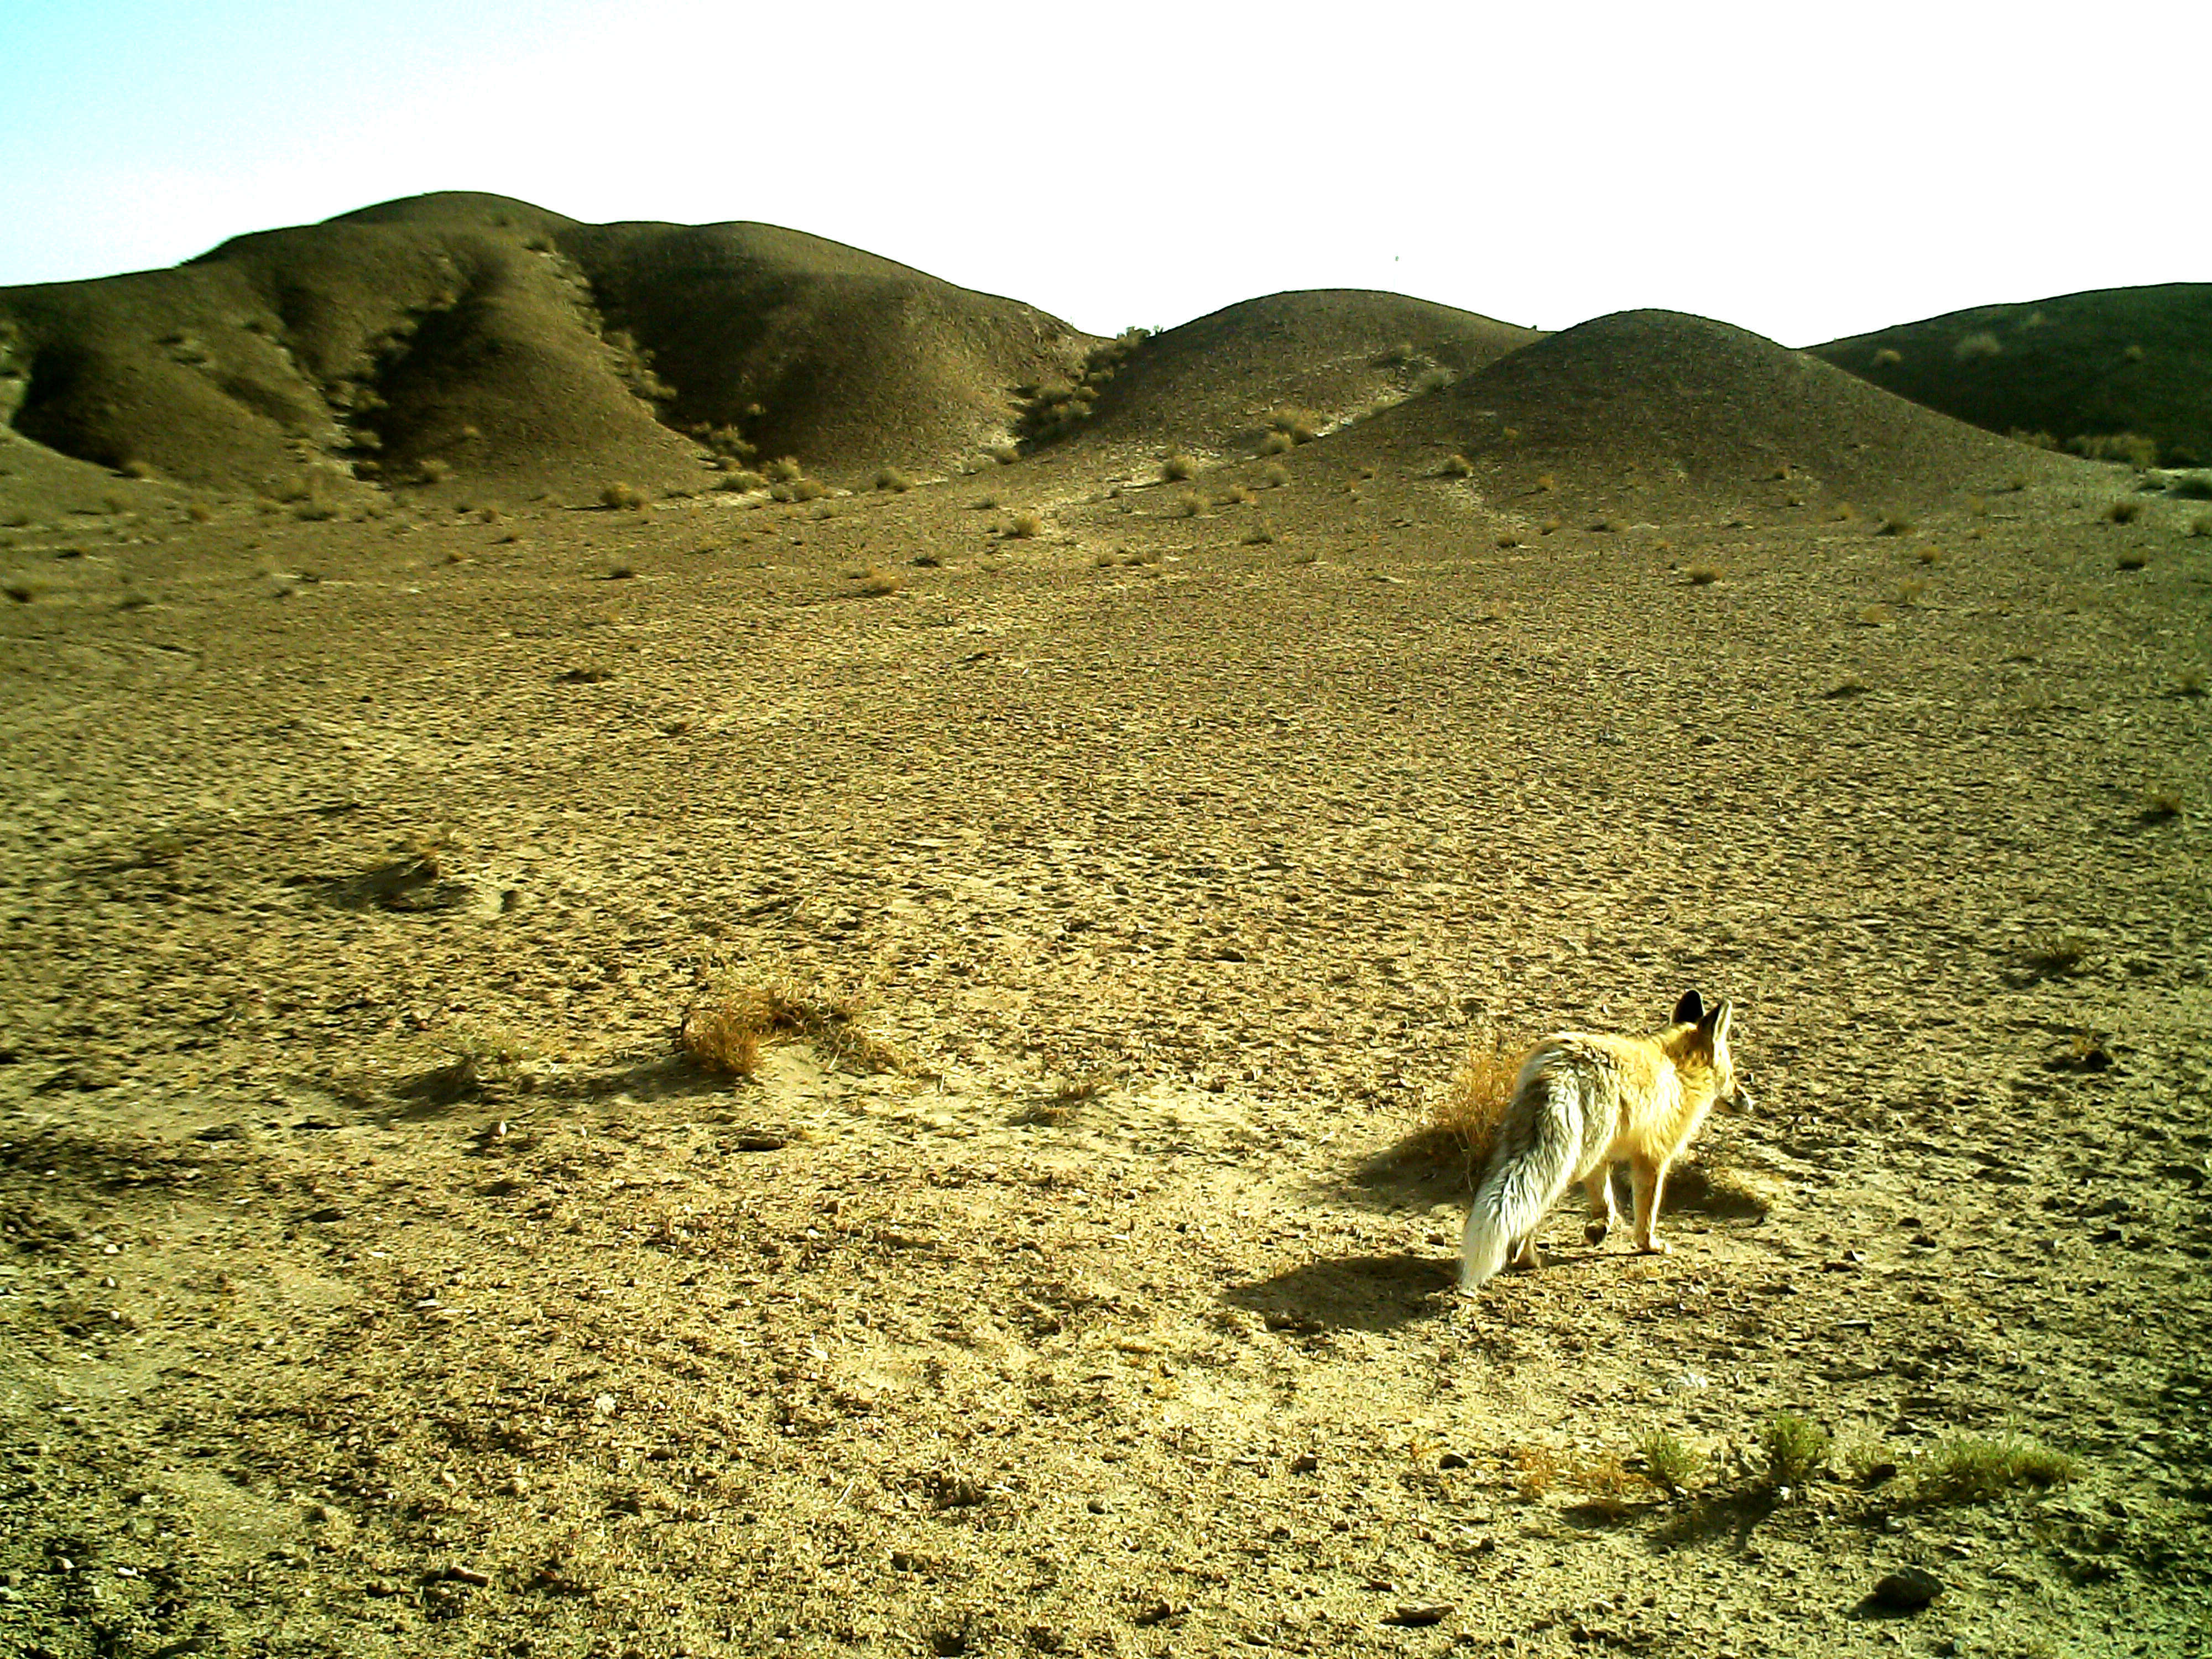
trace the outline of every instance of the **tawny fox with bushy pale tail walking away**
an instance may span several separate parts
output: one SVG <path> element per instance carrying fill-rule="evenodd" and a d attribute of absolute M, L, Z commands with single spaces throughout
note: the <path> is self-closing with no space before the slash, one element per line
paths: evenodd
<path fill-rule="evenodd" d="M 1728 1053 L 1732 1020 L 1730 1002 L 1708 1009 L 1688 991 L 1674 1018 L 1648 1037 L 1562 1031 L 1528 1051 L 1467 1210 L 1462 1296 L 1473 1296 L 1509 1256 L 1522 1267 L 1542 1265 L 1535 1230 L 1573 1181 L 1590 1194 L 1588 1241 L 1613 1232 L 1613 1166 L 1621 1161 L 1635 1175 L 1637 1250 L 1668 1252 L 1659 1241 L 1668 1166 L 1717 1104 L 1752 1110 Z"/>

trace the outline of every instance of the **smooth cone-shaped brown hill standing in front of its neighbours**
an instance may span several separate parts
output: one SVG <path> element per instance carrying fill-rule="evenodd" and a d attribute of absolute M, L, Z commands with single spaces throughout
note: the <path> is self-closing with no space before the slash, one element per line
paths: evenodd
<path fill-rule="evenodd" d="M 1792 480 L 1907 500 L 2057 458 L 1893 398 L 1818 358 L 1681 312 L 1615 312 L 1528 345 L 1329 440 L 1365 458 L 1458 453 L 1540 476 L 1730 495 Z"/>

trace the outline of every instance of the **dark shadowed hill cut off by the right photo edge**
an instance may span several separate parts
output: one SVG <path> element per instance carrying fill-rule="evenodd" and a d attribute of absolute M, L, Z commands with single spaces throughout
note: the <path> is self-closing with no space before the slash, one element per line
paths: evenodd
<path fill-rule="evenodd" d="M 1812 352 L 1991 431 L 2139 434 L 2152 460 L 2212 462 L 2212 283 L 1980 305 Z"/>

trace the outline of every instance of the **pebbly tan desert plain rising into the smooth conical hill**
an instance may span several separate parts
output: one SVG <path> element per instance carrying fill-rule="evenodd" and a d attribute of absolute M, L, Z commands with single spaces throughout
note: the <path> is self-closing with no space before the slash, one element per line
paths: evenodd
<path fill-rule="evenodd" d="M 0 1650 L 2212 1650 L 2212 507 L 1500 327 L 792 500 L 0 438 Z M 1391 1150 L 1688 987 L 1672 1254 L 1455 1296 Z"/>

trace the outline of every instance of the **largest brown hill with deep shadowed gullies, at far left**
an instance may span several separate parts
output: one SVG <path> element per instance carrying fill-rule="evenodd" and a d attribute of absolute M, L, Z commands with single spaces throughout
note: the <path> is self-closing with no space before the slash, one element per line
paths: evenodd
<path fill-rule="evenodd" d="M 706 429 L 830 473 L 1002 438 L 1086 338 L 772 226 L 582 226 L 436 195 L 164 272 L 0 290 L 11 425 L 215 487 L 301 471 L 577 489 L 701 478 Z"/>

